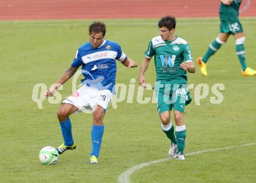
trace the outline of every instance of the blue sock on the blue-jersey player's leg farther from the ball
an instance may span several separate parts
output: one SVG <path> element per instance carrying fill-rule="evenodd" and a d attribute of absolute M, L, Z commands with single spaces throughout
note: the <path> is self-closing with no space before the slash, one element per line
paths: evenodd
<path fill-rule="evenodd" d="M 101 140 L 104 133 L 104 125 L 93 125 L 93 128 L 91 129 L 91 142 L 92 142 L 92 148 L 91 148 L 91 156 L 99 157 L 99 151 L 101 150 Z"/>

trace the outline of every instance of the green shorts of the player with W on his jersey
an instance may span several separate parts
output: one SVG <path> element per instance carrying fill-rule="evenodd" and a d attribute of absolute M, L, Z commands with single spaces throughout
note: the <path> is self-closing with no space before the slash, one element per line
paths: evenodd
<path fill-rule="evenodd" d="M 185 105 L 191 102 L 187 84 L 165 84 L 165 86 L 155 90 L 157 98 L 157 109 L 159 114 L 164 111 L 184 112 Z"/>

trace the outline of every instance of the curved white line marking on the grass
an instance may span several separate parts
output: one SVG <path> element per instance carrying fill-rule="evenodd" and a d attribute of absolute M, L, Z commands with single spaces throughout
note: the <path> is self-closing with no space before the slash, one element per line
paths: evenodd
<path fill-rule="evenodd" d="M 248 146 L 252 146 L 252 145 L 256 145 L 256 142 L 255 143 L 249 143 L 249 144 L 243 144 L 243 145 L 230 146 L 230 147 L 225 147 L 225 148 L 206 149 L 206 150 L 203 150 L 203 151 L 195 151 L 195 152 L 187 153 L 186 156 L 193 156 L 193 155 L 198 155 L 198 154 L 207 153 L 207 152 L 222 151 L 222 150 L 226 150 L 226 149 L 248 147 Z M 170 158 L 158 159 L 158 160 L 154 160 L 154 161 L 150 161 L 150 162 L 140 163 L 140 164 L 138 164 L 134 167 L 131 167 L 130 169 L 128 169 L 125 172 L 123 172 L 122 174 L 120 174 L 120 176 L 118 177 L 118 182 L 120 182 L 120 183 L 129 183 L 130 182 L 129 181 L 129 176 L 132 173 L 134 173 L 135 171 L 137 171 L 139 169 L 142 169 L 145 166 L 148 166 L 150 164 L 165 162 L 166 160 L 169 160 L 169 159 Z"/>

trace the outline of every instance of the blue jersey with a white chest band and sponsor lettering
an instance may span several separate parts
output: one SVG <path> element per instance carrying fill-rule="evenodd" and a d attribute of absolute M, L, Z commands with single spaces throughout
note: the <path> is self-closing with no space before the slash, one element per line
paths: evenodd
<path fill-rule="evenodd" d="M 93 48 L 90 42 L 80 46 L 76 52 L 72 67 L 82 65 L 83 83 L 99 90 L 112 92 L 116 80 L 116 60 L 124 61 L 126 54 L 118 43 L 104 39 L 101 46 Z"/>

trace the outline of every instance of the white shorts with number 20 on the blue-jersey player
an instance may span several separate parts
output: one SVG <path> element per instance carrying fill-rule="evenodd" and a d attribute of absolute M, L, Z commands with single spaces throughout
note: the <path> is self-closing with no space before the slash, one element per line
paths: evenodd
<path fill-rule="evenodd" d="M 78 111 L 83 112 L 92 112 L 97 105 L 100 105 L 106 112 L 111 99 L 112 93 L 109 90 L 98 90 L 84 85 L 67 97 L 63 103 L 72 104 L 79 108 Z"/>

